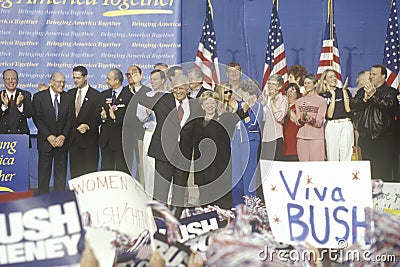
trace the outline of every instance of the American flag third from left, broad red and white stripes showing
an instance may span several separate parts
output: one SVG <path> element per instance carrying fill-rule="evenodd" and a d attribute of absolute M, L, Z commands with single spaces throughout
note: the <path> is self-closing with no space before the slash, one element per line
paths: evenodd
<path fill-rule="evenodd" d="M 328 1 L 328 19 L 325 25 L 324 39 L 322 41 L 321 56 L 319 58 L 317 77 L 321 78 L 322 73 L 326 69 L 331 69 L 335 72 L 337 82 L 336 86 L 342 87 L 342 70 L 340 68 L 340 57 L 338 42 L 335 32 L 335 23 L 333 20 L 332 1 Z"/>

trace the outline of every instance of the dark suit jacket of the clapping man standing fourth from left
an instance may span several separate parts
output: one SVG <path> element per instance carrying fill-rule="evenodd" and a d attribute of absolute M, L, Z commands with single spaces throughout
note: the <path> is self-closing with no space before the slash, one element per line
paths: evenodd
<path fill-rule="evenodd" d="M 101 122 L 99 145 L 101 148 L 108 146 L 113 151 L 122 151 L 122 124 L 129 101 L 132 98 L 132 93 L 129 91 L 129 88 L 124 87 L 118 95 L 117 103 L 115 103 L 118 107 L 115 111 L 115 120 L 110 119 L 110 113 L 108 112 L 109 106 L 106 103 L 106 99 L 111 98 L 112 89 L 100 93 L 99 111 L 101 110 L 101 107 L 104 107 L 104 110 L 107 113 L 107 119 Z M 132 114 L 132 116 L 135 115 L 136 114 Z"/>

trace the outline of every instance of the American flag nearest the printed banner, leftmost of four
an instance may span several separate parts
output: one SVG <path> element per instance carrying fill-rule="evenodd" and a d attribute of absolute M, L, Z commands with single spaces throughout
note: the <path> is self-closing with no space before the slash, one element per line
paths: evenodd
<path fill-rule="evenodd" d="M 210 0 L 206 3 L 206 19 L 203 24 L 195 66 L 204 74 L 203 86 L 212 89 L 219 82 L 219 67 L 217 56 L 217 39 L 215 37 L 213 13 Z"/>

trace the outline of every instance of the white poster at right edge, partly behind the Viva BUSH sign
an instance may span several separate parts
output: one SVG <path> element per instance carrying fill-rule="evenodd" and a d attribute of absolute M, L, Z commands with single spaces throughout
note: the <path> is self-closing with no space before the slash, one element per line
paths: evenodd
<path fill-rule="evenodd" d="M 382 194 L 374 198 L 374 208 L 400 210 L 400 183 L 383 183 Z"/>

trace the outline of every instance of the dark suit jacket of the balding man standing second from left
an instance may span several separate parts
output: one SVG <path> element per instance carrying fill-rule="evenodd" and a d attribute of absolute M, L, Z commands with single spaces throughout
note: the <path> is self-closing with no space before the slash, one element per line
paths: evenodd
<path fill-rule="evenodd" d="M 68 149 L 68 138 L 71 131 L 72 107 L 66 92 L 60 94 L 60 104 L 58 109 L 58 120 L 54 113 L 53 103 L 51 101 L 50 91 L 37 92 L 33 95 L 33 122 L 38 129 L 37 147 L 40 151 L 50 152 L 53 147 L 47 141 L 50 135 L 64 135 L 64 145 L 60 150 Z"/>

